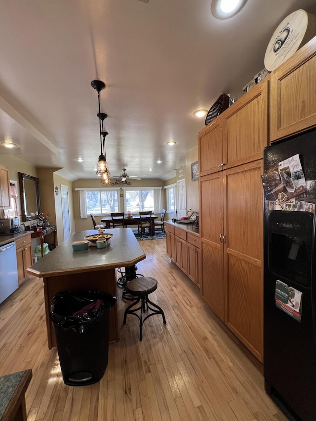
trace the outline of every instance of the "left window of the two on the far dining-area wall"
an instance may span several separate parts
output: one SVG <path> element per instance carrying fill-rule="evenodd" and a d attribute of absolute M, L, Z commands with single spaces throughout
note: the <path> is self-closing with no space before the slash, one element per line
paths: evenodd
<path fill-rule="evenodd" d="M 111 212 L 119 212 L 118 189 L 76 189 L 79 190 L 80 218 L 87 218 L 87 215 L 109 215 Z"/>

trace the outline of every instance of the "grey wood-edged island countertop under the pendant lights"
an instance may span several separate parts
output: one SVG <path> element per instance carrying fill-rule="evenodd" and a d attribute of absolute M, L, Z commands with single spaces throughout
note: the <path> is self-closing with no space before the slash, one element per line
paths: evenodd
<path fill-rule="evenodd" d="M 112 228 L 103 231 L 113 234 L 107 248 L 98 249 L 89 246 L 88 250 L 74 251 L 71 245 L 73 241 L 82 241 L 86 235 L 98 233 L 97 230 L 76 232 L 44 258 L 30 266 L 27 272 L 38 277 L 49 277 L 133 266 L 146 258 L 130 228 Z"/>

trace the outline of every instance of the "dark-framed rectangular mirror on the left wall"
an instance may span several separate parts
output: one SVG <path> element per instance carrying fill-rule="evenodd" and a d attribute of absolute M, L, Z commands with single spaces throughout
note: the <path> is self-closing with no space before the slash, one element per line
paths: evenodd
<path fill-rule="evenodd" d="M 40 180 L 19 172 L 22 222 L 38 219 L 40 213 Z"/>

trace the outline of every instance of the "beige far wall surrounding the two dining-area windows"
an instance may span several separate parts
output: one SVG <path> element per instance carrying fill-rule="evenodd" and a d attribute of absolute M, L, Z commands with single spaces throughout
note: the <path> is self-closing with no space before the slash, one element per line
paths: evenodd
<path fill-rule="evenodd" d="M 125 187 L 162 187 L 164 185 L 164 182 L 158 178 L 150 178 L 150 179 L 142 179 L 142 180 L 132 180 L 129 179 L 129 182 L 131 182 L 130 186 Z M 73 182 L 73 197 L 74 197 L 74 218 L 75 218 L 75 228 L 76 231 L 83 231 L 83 230 L 92 230 L 93 224 L 90 215 L 88 215 L 87 218 L 80 218 L 79 213 L 79 191 L 75 191 L 75 189 L 79 188 L 100 188 L 102 187 L 102 184 L 100 182 L 100 179 L 81 179 L 76 180 Z M 116 186 L 111 186 L 116 187 Z M 118 186 L 119 187 L 119 186 Z M 124 186 L 122 186 L 124 187 Z M 120 195 L 123 194 L 123 190 L 119 191 Z M 120 211 L 124 211 L 124 198 L 122 196 L 119 197 L 120 199 Z M 161 189 L 161 208 L 165 208 L 165 192 L 163 189 Z M 95 221 L 98 224 L 101 224 L 101 219 L 103 216 L 97 216 L 95 215 Z"/>

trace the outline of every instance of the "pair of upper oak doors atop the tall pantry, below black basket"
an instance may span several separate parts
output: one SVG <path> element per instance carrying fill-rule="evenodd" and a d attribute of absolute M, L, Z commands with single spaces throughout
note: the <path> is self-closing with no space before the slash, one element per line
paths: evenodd
<path fill-rule="evenodd" d="M 266 78 L 199 132 L 199 176 L 263 157 L 269 142 L 268 87 Z"/>

